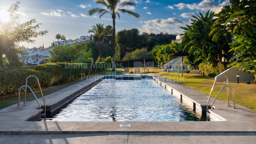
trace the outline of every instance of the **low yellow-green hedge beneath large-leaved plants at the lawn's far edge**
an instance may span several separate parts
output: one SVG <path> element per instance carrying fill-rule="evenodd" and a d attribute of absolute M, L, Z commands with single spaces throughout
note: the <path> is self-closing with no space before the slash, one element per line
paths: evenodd
<path fill-rule="evenodd" d="M 218 74 L 224 72 L 226 70 L 226 67 L 223 63 L 218 63 L 217 66 L 212 66 L 209 63 L 200 63 L 199 64 L 199 70 L 201 74 L 203 73 L 204 70 L 204 75 L 205 76 L 217 76 Z"/>

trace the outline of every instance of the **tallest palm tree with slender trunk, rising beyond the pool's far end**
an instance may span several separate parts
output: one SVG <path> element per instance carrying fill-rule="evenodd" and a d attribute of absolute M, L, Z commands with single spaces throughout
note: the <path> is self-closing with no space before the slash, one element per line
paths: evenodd
<path fill-rule="evenodd" d="M 110 14 L 113 20 L 113 57 L 112 57 L 112 66 L 113 71 L 115 69 L 115 47 L 116 47 L 116 15 L 118 18 L 120 18 L 120 13 L 127 13 L 129 15 L 133 15 L 136 18 L 139 18 L 140 15 L 132 12 L 125 7 L 127 6 L 135 6 L 136 3 L 131 1 L 124 1 L 121 2 L 121 0 L 96 0 L 96 3 L 101 4 L 106 7 L 105 8 L 93 8 L 89 10 L 89 15 L 93 15 L 95 13 L 98 13 L 100 15 L 100 18 L 102 15 Z"/>

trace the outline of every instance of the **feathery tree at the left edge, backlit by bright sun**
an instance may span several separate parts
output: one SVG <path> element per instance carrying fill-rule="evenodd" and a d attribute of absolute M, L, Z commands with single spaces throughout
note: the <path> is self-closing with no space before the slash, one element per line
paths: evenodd
<path fill-rule="evenodd" d="M 19 10 L 20 2 L 16 2 L 8 9 L 10 19 L 7 23 L 0 22 L 0 67 L 16 67 L 23 63 L 18 54 L 23 53 L 19 49 L 20 42 L 34 43 L 37 38 L 47 34 L 45 31 L 37 31 L 40 23 L 36 19 L 31 19 L 25 23 L 20 23 Z"/>

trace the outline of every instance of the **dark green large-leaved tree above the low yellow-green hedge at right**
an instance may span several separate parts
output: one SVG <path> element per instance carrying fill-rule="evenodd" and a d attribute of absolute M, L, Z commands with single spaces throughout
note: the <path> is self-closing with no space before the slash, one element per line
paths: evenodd
<path fill-rule="evenodd" d="M 196 15 L 195 19 L 191 20 L 191 25 L 181 27 L 185 31 L 185 36 L 182 38 L 181 45 L 184 50 L 189 52 L 188 60 L 190 63 L 210 62 L 217 65 L 223 56 L 223 50 L 227 46 L 225 37 L 220 37 L 213 41 L 213 36 L 210 35 L 211 27 L 216 19 L 213 12 L 206 12 L 205 15 Z"/>

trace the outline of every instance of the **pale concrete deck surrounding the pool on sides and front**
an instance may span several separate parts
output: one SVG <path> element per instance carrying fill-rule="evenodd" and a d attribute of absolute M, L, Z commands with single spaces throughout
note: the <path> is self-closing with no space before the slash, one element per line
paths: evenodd
<path fill-rule="evenodd" d="M 183 100 L 194 101 L 197 106 L 206 105 L 207 96 L 175 83 L 162 76 L 152 75 L 158 83 L 173 89 L 174 95 L 183 95 Z M 94 76 L 60 91 L 45 96 L 48 105 L 53 105 L 86 86 L 99 81 L 104 76 Z M 86 89 L 85 89 L 86 90 Z M 179 92 L 179 93 L 178 93 Z M 22 101 L 22 100 L 21 100 Z M 42 99 L 39 99 L 42 103 Z M 77 133 L 252 133 L 256 135 L 256 112 L 244 106 L 236 109 L 226 106 L 224 101 L 216 101 L 218 109 L 211 114 L 224 121 L 116 121 L 116 122 L 68 122 L 68 121 L 25 121 L 42 110 L 36 109 L 36 101 L 27 102 L 27 106 L 16 109 L 17 105 L 0 110 L 0 134 L 77 134 Z M 231 103 L 232 105 L 232 103 Z M 120 127 L 120 124 L 131 124 L 131 127 Z"/>

